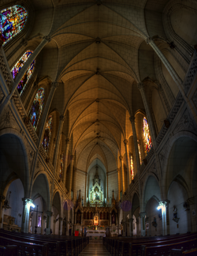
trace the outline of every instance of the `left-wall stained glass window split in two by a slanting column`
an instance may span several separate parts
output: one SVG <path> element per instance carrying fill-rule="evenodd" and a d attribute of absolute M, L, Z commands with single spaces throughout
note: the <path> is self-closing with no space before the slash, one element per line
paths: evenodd
<path fill-rule="evenodd" d="M 24 55 L 17 61 L 17 63 L 13 66 L 11 72 L 13 74 L 13 79 L 17 76 L 17 73 L 20 71 L 22 66 L 24 66 L 24 63 L 27 62 L 29 56 L 31 56 L 33 51 L 25 51 Z M 17 86 L 18 92 L 21 95 L 24 91 L 25 86 L 28 84 L 29 79 L 32 77 L 32 73 L 35 69 L 35 60 L 32 62 L 32 64 L 28 67 L 28 70 L 24 73 L 24 76 L 22 77 L 19 85 Z"/>

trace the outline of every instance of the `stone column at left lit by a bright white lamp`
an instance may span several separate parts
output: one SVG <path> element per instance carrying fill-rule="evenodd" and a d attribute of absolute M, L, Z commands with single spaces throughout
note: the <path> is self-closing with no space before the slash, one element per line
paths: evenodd
<path fill-rule="evenodd" d="M 30 210 L 31 204 L 33 203 L 33 200 L 30 198 L 22 198 L 22 201 L 23 201 L 23 214 L 22 214 L 21 232 L 28 233 L 29 210 Z"/>

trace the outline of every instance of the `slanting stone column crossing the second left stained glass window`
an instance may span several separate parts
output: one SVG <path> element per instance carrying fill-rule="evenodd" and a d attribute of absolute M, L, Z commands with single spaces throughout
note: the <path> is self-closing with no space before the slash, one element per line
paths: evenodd
<path fill-rule="evenodd" d="M 46 45 L 46 43 L 50 42 L 50 36 L 44 36 L 43 41 L 39 43 L 39 46 L 36 47 L 35 51 L 32 53 L 32 55 L 28 58 L 27 62 L 24 63 L 24 66 L 20 69 L 19 73 L 17 73 L 16 80 L 13 82 L 12 91 L 9 93 L 9 95 L 6 97 L 6 100 L 0 107 L 0 115 L 5 107 L 9 104 L 9 100 L 12 98 L 13 93 L 17 89 L 18 84 L 20 83 L 22 77 L 24 76 L 24 73 L 28 70 L 28 67 L 32 64 L 32 62 L 35 60 L 37 55 L 39 55 L 39 52 L 42 51 L 43 47 Z"/>

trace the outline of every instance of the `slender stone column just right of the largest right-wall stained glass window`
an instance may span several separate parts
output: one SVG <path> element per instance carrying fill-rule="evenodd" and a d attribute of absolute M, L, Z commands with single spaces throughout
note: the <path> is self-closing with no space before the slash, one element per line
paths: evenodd
<path fill-rule="evenodd" d="M 151 133 L 151 140 L 152 140 L 152 143 L 154 145 L 154 149 L 156 149 L 157 147 L 156 147 L 156 134 L 155 134 L 155 130 L 154 130 L 154 122 L 153 122 L 153 119 L 152 119 L 149 104 L 147 102 L 147 96 L 146 96 L 146 93 L 145 93 L 145 90 L 144 90 L 144 84 L 139 83 L 137 85 L 137 87 L 139 88 L 139 91 L 140 91 L 142 99 L 143 99 L 143 105 L 144 105 L 145 111 L 147 113 L 147 121 L 148 121 L 148 125 L 149 125 L 149 128 L 150 128 L 150 133 Z"/>

